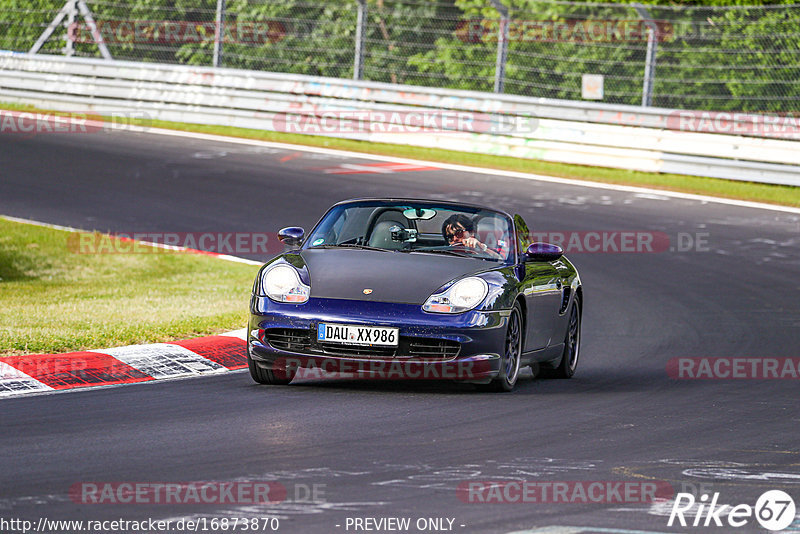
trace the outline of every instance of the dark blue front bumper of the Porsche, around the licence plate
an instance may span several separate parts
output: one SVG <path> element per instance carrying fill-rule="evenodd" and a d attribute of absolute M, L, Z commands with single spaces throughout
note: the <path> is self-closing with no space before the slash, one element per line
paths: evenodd
<path fill-rule="evenodd" d="M 508 311 L 472 310 L 462 314 L 424 312 L 414 304 L 311 298 L 305 304 L 276 303 L 253 297 L 250 306 L 248 355 L 255 365 L 293 376 L 299 368 L 380 379 L 454 379 L 486 383 L 500 372 Z M 411 342 L 441 342 L 457 352 L 425 357 L 360 347 L 341 354 L 316 340 L 321 322 L 388 326 L 399 329 L 400 347 Z M 282 348 L 270 342 L 271 332 L 307 332 L 308 343 Z M 305 335 L 305 334 L 303 334 Z M 305 339 L 305 337 L 303 338 Z M 288 349 L 287 349 L 288 347 Z"/>

